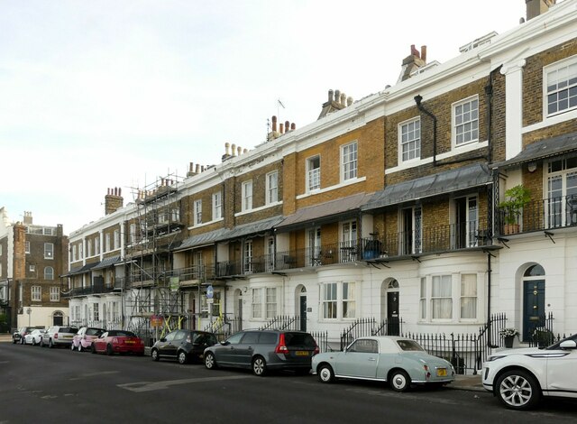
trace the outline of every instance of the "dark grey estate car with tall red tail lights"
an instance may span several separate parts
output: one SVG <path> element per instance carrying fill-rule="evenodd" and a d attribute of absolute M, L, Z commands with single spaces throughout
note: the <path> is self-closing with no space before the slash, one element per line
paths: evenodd
<path fill-rule="evenodd" d="M 206 347 L 205 366 L 252 369 L 255 375 L 267 370 L 309 373 L 311 359 L 318 354 L 316 341 L 304 331 L 245 330 L 218 345 Z"/>

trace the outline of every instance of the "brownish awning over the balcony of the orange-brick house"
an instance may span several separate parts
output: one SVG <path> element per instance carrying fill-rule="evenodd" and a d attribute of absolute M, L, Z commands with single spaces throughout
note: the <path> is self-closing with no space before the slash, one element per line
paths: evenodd
<path fill-rule="evenodd" d="M 286 217 L 277 229 L 287 231 L 296 226 L 306 223 L 321 224 L 334 221 L 346 216 L 353 217 L 361 210 L 361 206 L 371 198 L 372 194 L 359 193 L 347 198 L 339 198 L 330 202 L 321 203 L 311 207 L 302 207 L 293 215 Z"/>

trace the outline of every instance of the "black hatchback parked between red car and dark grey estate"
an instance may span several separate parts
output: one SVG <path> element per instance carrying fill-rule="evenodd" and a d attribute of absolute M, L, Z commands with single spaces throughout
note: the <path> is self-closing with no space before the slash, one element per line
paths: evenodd
<path fill-rule="evenodd" d="M 151 357 L 152 361 L 170 358 L 177 359 L 179 364 L 187 364 L 191 359 L 202 360 L 206 347 L 217 343 L 213 333 L 179 329 L 160 338 L 151 347 Z"/>

